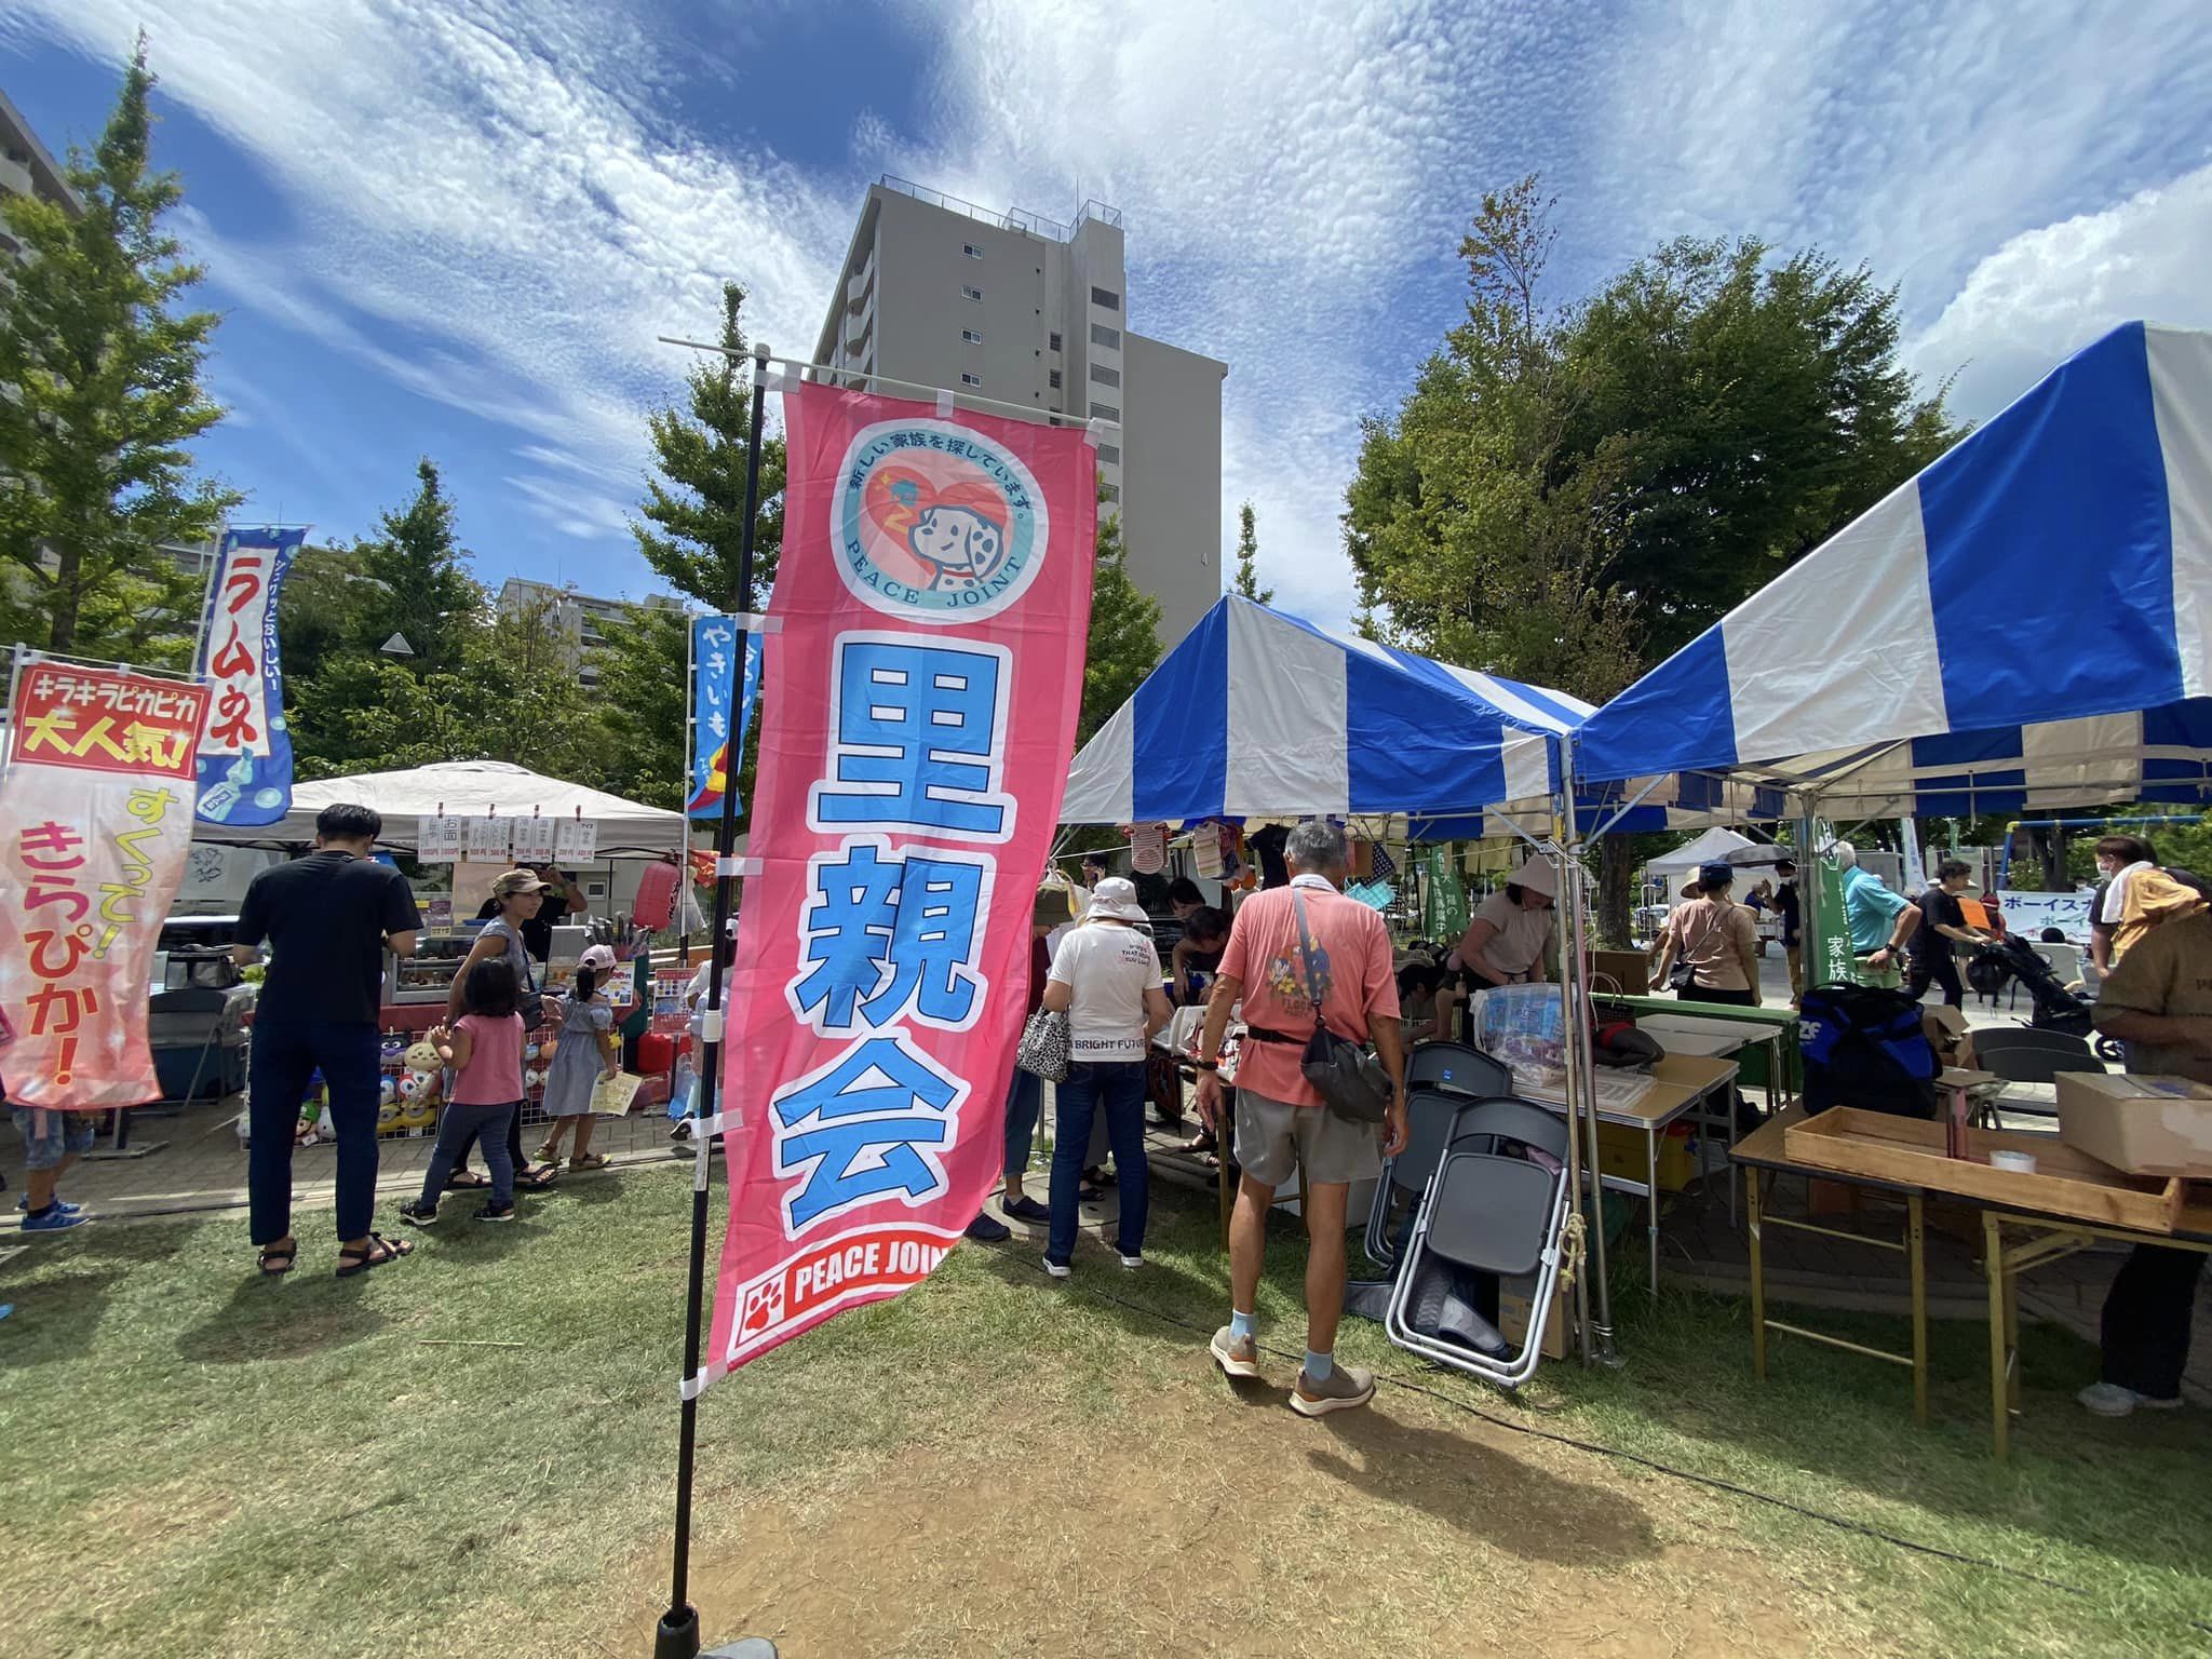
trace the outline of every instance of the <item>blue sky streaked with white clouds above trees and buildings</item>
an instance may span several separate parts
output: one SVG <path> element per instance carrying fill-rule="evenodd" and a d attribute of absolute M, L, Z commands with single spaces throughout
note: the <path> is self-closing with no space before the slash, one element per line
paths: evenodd
<path fill-rule="evenodd" d="M 1902 285 L 1986 416 L 2110 323 L 2212 327 L 2212 7 L 1113 7 L 1088 0 L 15 0 L 0 86 L 88 142 L 144 22 L 226 312 L 204 460 L 365 533 L 440 462 L 478 573 L 644 593 L 644 411 L 723 276 L 812 347 L 869 179 L 1126 212 L 1130 323 L 1230 363 L 1225 533 L 1349 608 L 1363 414 L 1453 321 L 1460 228 L 1540 170 L 1559 296 L 1677 232 Z"/>

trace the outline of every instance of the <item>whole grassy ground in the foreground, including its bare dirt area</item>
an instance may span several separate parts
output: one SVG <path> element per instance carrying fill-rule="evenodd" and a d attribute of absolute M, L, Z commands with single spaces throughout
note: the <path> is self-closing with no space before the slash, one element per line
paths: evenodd
<path fill-rule="evenodd" d="M 650 1652 L 686 1170 L 575 1181 L 513 1228 L 451 1206 L 411 1261 L 347 1283 L 325 1214 L 283 1283 L 252 1276 L 241 1214 L 35 1241 L 0 1270 L 0 1652 Z M 1783 1340 L 1761 1387 L 1741 1305 L 1639 1290 L 1624 1369 L 1551 1365 L 1522 1398 L 1347 1325 L 1340 1354 L 1398 1380 L 1303 1422 L 1296 1237 L 1263 1292 L 1270 1387 L 1230 1389 L 1203 1354 L 1225 1316 L 1210 1201 L 1161 1190 L 1152 1214 L 1139 1274 L 1086 1245 L 1051 1283 L 1020 1239 L 962 1245 L 717 1385 L 710 1639 L 772 1635 L 787 1659 L 2212 1648 L 2205 1427 L 2086 1418 L 2066 1396 L 2093 1354 L 2066 1336 L 2028 1332 L 2008 1469 L 1984 1449 L 1978 1325 L 1936 1327 L 1918 1431 L 1900 1371 Z"/>

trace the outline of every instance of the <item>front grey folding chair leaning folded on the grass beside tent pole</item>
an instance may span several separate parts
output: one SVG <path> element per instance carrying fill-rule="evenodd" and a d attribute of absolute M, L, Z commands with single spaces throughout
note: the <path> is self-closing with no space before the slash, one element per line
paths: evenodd
<path fill-rule="evenodd" d="M 1526 1146 L 1548 1159 L 1509 1152 Z M 1566 1121 L 1520 1099 L 1462 1106 L 1429 1179 L 1383 1329 L 1391 1343 L 1453 1371 L 1517 1389 L 1535 1376 L 1544 1323 L 1559 1292 L 1566 1230 Z M 1535 1276 L 1520 1349 L 1475 1301 L 1480 1279 Z"/>

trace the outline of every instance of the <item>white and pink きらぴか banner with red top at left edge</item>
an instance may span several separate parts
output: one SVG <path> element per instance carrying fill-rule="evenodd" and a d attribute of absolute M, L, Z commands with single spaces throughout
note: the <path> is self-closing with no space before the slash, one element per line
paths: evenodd
<path fill-rule="evenodd" d="M 15 1106 L 161 1097 L 148 971 L 192 847 L 208 688 L 33 664 L 0 785 L 0 1075 Z"/>

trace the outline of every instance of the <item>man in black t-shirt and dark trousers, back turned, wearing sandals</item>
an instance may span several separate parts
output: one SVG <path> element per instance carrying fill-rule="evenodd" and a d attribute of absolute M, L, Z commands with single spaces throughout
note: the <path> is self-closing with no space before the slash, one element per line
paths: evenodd
<path fill-rule="evenodd" d="M 246 1188 L 261 1272 L 299 1256 L 292 1237 L 292 1126 L 316 1068 L 338 1133 L 338 1276 L 405 1256 L 409 1245 L 369 1232 L 376 1208 L 376 1011 L 383 953 L 414 956 L 422 916 L 407 878 L 369 854 L 385 821 L 369 807 L 323 807 L 314 852 L 263 869 L 246 889 L 230 953 L 272 960 L 254 1004 L 248 1086 Z"/>

